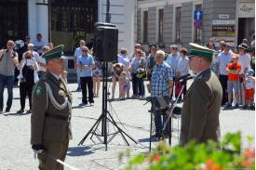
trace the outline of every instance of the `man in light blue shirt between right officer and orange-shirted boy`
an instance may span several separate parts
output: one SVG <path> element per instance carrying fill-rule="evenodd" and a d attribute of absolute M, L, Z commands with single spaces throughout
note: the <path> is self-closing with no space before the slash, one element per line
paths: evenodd
<path fill-rule="evenodd" d="M 226 65 L 232 60 L 234 53 L 230 51 L 230 46 L 228 43 L 225 43 L 223 50 L 216 59 L 216 74 L 219 77 L 219 80 L 222 84 L 222 106 L 227 102 L 227 72 Z"/>

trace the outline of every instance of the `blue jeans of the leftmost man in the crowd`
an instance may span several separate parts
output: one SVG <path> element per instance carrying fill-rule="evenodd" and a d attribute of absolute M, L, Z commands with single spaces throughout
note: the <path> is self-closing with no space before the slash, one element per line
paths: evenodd
<path fill-rule="evenodd" d="M 13 89 L 14 75 L 6 76 L 0 74 L 0 109 L 4 107 L 4 89 L 7 86 L 8 98 L 7 98 L 7 110 L 10 110 L 12 105 L 12 89 Z"/>

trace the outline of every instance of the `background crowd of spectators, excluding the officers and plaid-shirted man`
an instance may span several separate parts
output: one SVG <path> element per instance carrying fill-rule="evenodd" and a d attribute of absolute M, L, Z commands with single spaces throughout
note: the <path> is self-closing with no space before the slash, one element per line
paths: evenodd
<path fill-rule="evenodd" d="M 209 39 L 209 49 L 216 51 L 215 58 L 211 62 L 211 70 L 217 74 L 222 84 L 222 106 L 225 109 L 239 108 L 254 110 L 254 43 L 246 44 L 246 40 L 237 46 L 237 54 L 231 49 L 229 43 L 221 41 L 219 44 Z M 80 106 L 94 105 L 94 98 L 99 97 L 102 80 L 102 63 L 93 55 L 93 46 L 89 46 L 85 40 L 80 40 L 74 51 L 74 68 L 77 74 L 77 89 L 82 91 L 82 102 Z M 219 45 L 219 48 L 216 47 Z M 12 88 L 16 82 L 20 82 L 20 111 L 25 111 L 25 98 L 29 97 L 31 109 L 31 96 L 33 85 L 46 72 L 46 60 L 41 56 L 54 46 L 46 44 L 42 40 L 42 34 L 36 34 L 36 40 L 31 43 L 30 36 L 25 37 L 24 46 L 14 50 L 15 43 L 7 42 L 7 49 L 0 51 L 0 111 L 3 111 L 3 91 L 7 85 L 8 98 L 6 111 L 10 110 L 12 103 Z M 115 97 L 115 87 L 119 86 L 119 99 L 145 98 L 144 81 L 148 84 L 146 89 L 151 91 L 152 74 L 155 67 L 155 54 L 157 46 L 149 45 L 149 51 L 145 52 L 140 44 L 134 46 L 131 58 L 128 50 L 121 47 L 117 62 L 112 65 L 112 88 L 111 98 Z M 174 82 L 170 98 L 182 101 L 185 97 L 187 87 L 186 81 L 175 81 L 179 77 L 189 75 L 188 50 L 185 47 L 169 46 L 169 53 L 165 53 L 164 61 L 171 68 Z M 7 58 L 8 57 L 8 58 Z M 18 73 L 14 73 L 16 72 Z M 63 72 L 63 79 L 67 81 L 67 71 Z M 15 76 L 14 76 L 15 75 Z M 18 76 L 17 76 L 18 75 Z M 159 75 L 161 76 L 161 75 Z M 14 82 L 14 84 L 12 83 Z M 130 85 L 131 82 L 131 85 Z M 183 89 L 182 89 L 183 85 Z M 182 89 L 182 92 L 181 92 Z M 180 98 L 178 95 L 181 92 Z M 234 103 L 234 107 L 232 104 Z M 30 112 L 30 109 L 27 112 Z"/>

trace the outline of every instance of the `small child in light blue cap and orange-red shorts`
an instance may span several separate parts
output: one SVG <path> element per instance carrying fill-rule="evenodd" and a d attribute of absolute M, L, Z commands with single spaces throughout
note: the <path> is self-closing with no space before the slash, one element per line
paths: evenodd
<path fill-rule="evenodd" d="M 254 71 L 249 69 L 246 74 L 245 79 L 245 97 L 246 97 L 246 104 L 244 105 L 243 109 L 255 110 L 253 106 L 253 95 L 254 95 L 254 83 L 255 79 L 253 77 Z"/>

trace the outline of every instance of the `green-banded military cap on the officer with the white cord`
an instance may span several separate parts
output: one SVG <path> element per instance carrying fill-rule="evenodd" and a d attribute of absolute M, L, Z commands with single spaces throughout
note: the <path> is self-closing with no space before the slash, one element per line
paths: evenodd
<path fill-rule="evenodd" d="M 62 56 L 63 54 L 63 45 L 56 46 L 50 50 L 48 50 L 45 54 L 42 55 L 43 58 L 46 60 L 49 59 L 66 59 Z"/>

